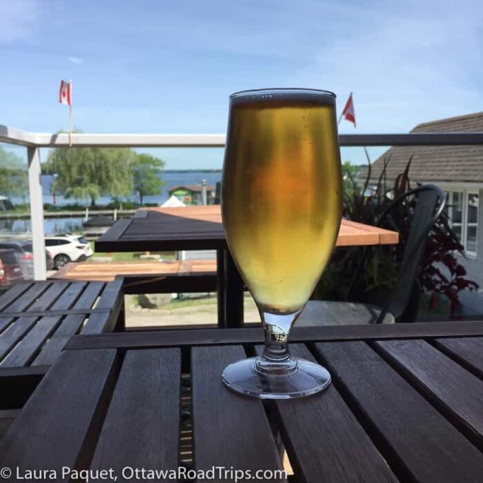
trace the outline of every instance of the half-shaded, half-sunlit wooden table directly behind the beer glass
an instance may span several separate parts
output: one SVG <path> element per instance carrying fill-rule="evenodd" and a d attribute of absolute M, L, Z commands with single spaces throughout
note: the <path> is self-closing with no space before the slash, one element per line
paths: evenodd
<path fill-rule="evenodd" d="M 397 244 L 399 234 L 342 220 L 336 246 Z M 226 245 L 219 205 L 141 208 L 95 242 L 97 252 L 217 250 L 218 324 L 243 325 L 244 282 Z M 227 308 L 230 307 L 228 313 Z"/>

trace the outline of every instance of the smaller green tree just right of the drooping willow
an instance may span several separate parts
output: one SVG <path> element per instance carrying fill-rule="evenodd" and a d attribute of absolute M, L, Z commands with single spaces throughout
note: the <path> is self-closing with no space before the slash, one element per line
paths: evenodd
<path fill-rule="evenodd" d="M 132 188 L 143 204 L 145 196 L 159 195 L 166 184 L 159 179 L 159 171 L 164 167 L 164 161 L 151 156 L 136 155 L 132 161 Z"/>

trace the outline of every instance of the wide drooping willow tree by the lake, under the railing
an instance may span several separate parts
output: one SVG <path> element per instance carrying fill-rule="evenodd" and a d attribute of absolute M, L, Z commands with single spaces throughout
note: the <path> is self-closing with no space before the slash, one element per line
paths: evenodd
<path fill-rule="evenodd" d="M 130 195 L 134 158 L 130 149 L 55 148 L 48 155 L 46 168 L 57 173 L 52 190 L 66 198 L 90 199 L 95 206 L 103 195 Z"/>

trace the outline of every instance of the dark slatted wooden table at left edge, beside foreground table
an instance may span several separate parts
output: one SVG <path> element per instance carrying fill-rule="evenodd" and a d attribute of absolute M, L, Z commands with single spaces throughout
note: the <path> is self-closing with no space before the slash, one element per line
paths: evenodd
<path fill-rule="evenodd" d="M 3 293 L 0 410 L 23 404 L 72 335 L 121 329 L 122 288 L 122 279 L 21 282 Z"/>

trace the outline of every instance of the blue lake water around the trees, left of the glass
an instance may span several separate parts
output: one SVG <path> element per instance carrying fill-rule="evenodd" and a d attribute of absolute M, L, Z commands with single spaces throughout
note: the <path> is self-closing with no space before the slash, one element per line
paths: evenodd
<path fill-rule="evenodd" d="M 202 179 L 206 179 L 207 184 L 215 184 L 221 181 L 221 172 L 203 172 L 203 171 L 188 171 L 188 172 L 161 172 L 159 177 L 166 182 L 162 193 L 156 196 L 144 197 L 144 203 L 163 204 L 168 199 L 168 189 L 171 186 L 177 186 L 181 184 L 201 184 Z M 50 193 L 52 186 L 52 175 L 42 175 L 41 184 L 43 191 L 43 203 L 52 204 L 53 198 Z M 130 201 L 137 201 L 137 197 L 127 198 Z M 99 205 L 109 204 L 112 199 L 110 197 L 101 197 L 96 203 Z M 121 200 L 122 201 L 122 200 Z M 12 198 L 13 203 L 21 203 L 21 199 Z M 57 206 L 65 206 L 68 204 L 77 204 L 85 207 L 89 206 L 88 200 L 75 200 L 66 199 L 63 196 L 56 195 L 55 204 Z M 43 229 L 46 235 L 52 235 L 55 233 L 68 233 L 73 231 L 82 230 L 84 219 L 83 217 L 66 217 L 66 218 L 44 218 Z M 30 219 L 0 219 L 0 232 L 9 233 L 26 233 L 31 231 Z"/>

